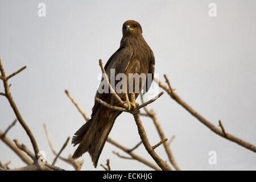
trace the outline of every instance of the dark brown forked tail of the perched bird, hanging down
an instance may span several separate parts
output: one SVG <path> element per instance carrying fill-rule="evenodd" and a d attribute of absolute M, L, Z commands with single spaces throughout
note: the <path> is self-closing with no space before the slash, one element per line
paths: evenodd
<path fill-rule="evenodd" d="M 82 154 L 88 151 L 92 157 L 92 162 L 95 168 L 97 167 L 98 158 L 100 157 L 102 148 L 114 125 L 115 118 L 117 118 L 116 114 L 112 117 L 106 117 L 105 114 L 100 113 L 101 112 L 97 112 L 95 117 L 82 125 L 72 138 L 74 146 L 80 143 L 72 158 L 79 158 Z"/>

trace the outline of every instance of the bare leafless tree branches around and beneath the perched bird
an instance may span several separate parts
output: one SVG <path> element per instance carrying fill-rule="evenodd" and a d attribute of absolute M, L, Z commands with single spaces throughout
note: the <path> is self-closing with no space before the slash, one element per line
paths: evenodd
<path fill-rule="evenodd" d="M 105 75 L 105 78 L 108 78 L 106 76 L 106 72 L 105 72 L 105 69 L 103 67 L 102 61 L 99 60 L 99 63 L 100 63 L 102 73 Z M 51 148 L 53 154 L 55 155 L 55 159 L 53 160 L 53 162 L 51 164 L 49 164 L 47 162 L 47 160 L 45 160 L 43 158 L 43 156 L 40 155 L 39 147 L 38 147 L 38 144 L 36 143 L 36 139 L 35 139 L 34 135 L 32 134 L 32 131 L 29 129 L 26 122 L 22 118 L 22 115 L 19 113 L 18 107 L 16 107 L 16 104 L 15 104 L 15 102 L 13 100 L 13 97 L 11 96 L 11 93 L 10 93 L 10 89 L 9 89 L 10 85 L 8 84 L 8 80 L 10 78 L 12 78 L 15 75 L 17 75 L 18 73 L 22 72 L 25 68 L 26 68 L 26 66 L 20 68 L 18 71 L 14 72 L 13 74 L 11 74 L 9 76 L 6 76 L 5 70 L 3 69 L 3 65 L 2 65 L 2 62 L 0 60 L 0 71 L 1 71 L 0 80 L 3 81 L 3 88 L 5 89 L 4 92 L 0 92 L 0 96 L 4 96 L 4 97 L 7 98 L 7 100 L 10 103 L 11 108 L 14 111 L 15 117 L 16 117 L 14 122 L 11 123 L 11 125 L 9 127 L 7 127 L 7 129 L 4 132 L 0 130 L 0 139 L 3 141 L 3 143 L 6 144 L 7 147 L 11 148 L 11 150 L 13 150 L 15 152 L 15 154 L 26 164 L 26 166 L 21 167 L 21 168 L 10 169 L 8 167 L 10 162 L 7 162 L 5 164 L 2 164 L 0 162 L 0 170 L 16 170 L 16 171 L 17 170 L 43 170 L 43 171 L 48 171 L 48 170 L 61 171 L 61 170 L 64 170 L 60 167 L 55 166 L 55 163 L 56 163 L 57 159 L 63 160 L 64 162 L 70 164 L 71 166 L 74 167 L 75 170 L 80 170 L 81 167 L 82 167 L 82 164 L 83 164 L 82 160 L 74 160 L 74 159 L 71 158 L 71 155 L 69 155 L 68 158 L 64 158 L 63 156 L 61 156 L 61 152 L 65 149 L 65 147 L 67 146 L 67 144 L 69 142 L 69 137 L 67 137 L 67 139 L 65 140 L 65 142 L 63 144 L 63 147 L 61 147 L 60 151 L 56 152 L 54 147 L 53 147 L 53 143 L 52 143 L 52 140 L 51 140 L 51 137 L 49 135 L 49 131 L 48 131 L 46 125 L 44 125 L 44 130 L 46 131 L 46 137 L 48 139 L 49 147 Z M 234 137 L 233 135 L 226 133 L 221 121 L 219 121 L 221 129 L 218 129 L 218 127 L 212 125 L 212 123 L 207 121 L 207 119 L 205 119 L 199 113 L 197 113 L 195 110 L 193 110 L 192 107 L 190 107 L 187 103 L 185 103 L 183 100 L 181 100 L 181 98 L 179 96 L 177 96 L 177 94 L 174 92 L 174 89 L 172 89 L 170 81 L 168 80 L 166 75 L 164 75 L 164 78 L 166 79 L 167 85 L 163 84 L 163 82 L 157 80 L 156 78 L 155 78 L 155 81 L 159 84 L 159 86 L 161 88 L 163 88 L 169 94 L 169 96 L 173 100 L 175 100 L 177 102 L 177 104 L 183 106 L 185 110 L 187 110 L 189 113 L 191 113 L 194 117 L 196 117 L 205 126 L 209 127 L 209 129 L 212 130 L 217 135 L 220 135 L 221 137 L 223 137 L 225 139 L 228 139 L 232 142 L 235 142 L 235 143 L 239 144 L 240 146 L 247 148 L 248 150 L 251 150 L 253 152 L 256 151 L 256 147 L 253 144 L 245 142 L 240 138 Z M 112 90 L 112 92 L 114 94 L 114 97 L 119 101 L 120 106 L 109 105 L 108 103 L 102 101 L 100 98 L 97 98 L 97 97 L 95 98 L 95 100 L 97 102 L 99 102 L 100 104 L 102 104 L 106 107 L 109 107 L 111 109 L 124 111 L 124 112 L 132 114 L 133 117 L 134 117 L 135 124 L 137 125 L 138 134 L 139 134 L 139 137 L 140 137 L 140 141 L 138 142 L 138 144 L 136 144 L 133 148 L 130 148 L 130 149 L 123 146 L 122 144 L 119 144 L 119 143 L 115 142 L 113 139 L 108 138 L 107 141 L 109 143 L 113 144 L 115 147 L 117 147 L 120 150 L 122 150 L 123 152 L 125 152 L 127 154 L 127 156 L 121 155 L 121 154 L 119 154 L 118 152 L 115 152 L 115 151 L 113 151 L 113 154 L 117 155 L 119 158 L 122 158 L 122 159 L 137 160 L 138 162 L 143 163 L 146 166 L 148 166 L 152 169 L 155 169 L 155 170 L 171 171 L 172 170 L 171 166 L 167 162 L 164 162 L 164 160 L 158 154 L 156 154 L 156 152 L 155 152 L 155 148 L 162 145 L 164 147 L 164 150 L 166 151 L 166 154 L 167 154 L 167 157 L 170 161 L 170 164 L 174 167 L 174 169 L 180 170 L 180 168 L 177 165 L 177 162 L 174 158 L 174 155 L 171 152 L 171 148 L 170 148 L 170 144 L 171 144 L 172 140 L 175 138 L 175 136 L 172 136 L 171 139 L 167 142 L 168 139 L 166 138 L 166 136 L 163 133 L 163 129 L 160 125 L 160 122 L 158 121 L 158 118 L 156 118 L 156 113 L 154 112 L 154 110 L 148 110 L 147 109 L 147 105 L 156 101 L 160 96 L 163 95 L 163 92 L 159 93 L 156 97 L 154 97 L 151 100 L 146 101 L 146 102 L 144 102 L 143 96 L 141 96 L 142 104 L 138 105 L 138 106 L 135 105 L 135 95 L 132 94 L 131 101 L 134 103 L 135 108 L 129 110 L 126 102 L 123 102 L 121 100 L 121 98 L 119 98 L 118 94 L 115 93 L 115 91 L 112 88 L 112 86 L 110 85 L 109 81 L 108 81 L 108 84 L 109 84 L 109 88 Z M 68 92 L 68 90 L 65 90 L 65 93 L 71 99 L 72 103 L 76 106 L 77 110 L 79 110 L 79 112 L 82 114 L 85 121 L 88 121 L 89 117 L 85 114 L 84 111 L 82 111 L 81 107 L 77 104 L 77 102 L 74 100 L 74 98 Z M 141 111 L 140 111 L 140 109 L 142 109 L 142 108 L 145 111 L 144 113 L 141 113 Z M 156 131 L 158 132 L 159 137 L 160 137 L 158 143 L 156 143 L 154 145 L 150 144 L 150 142 L 147 138 L 146 131 L 144 130 L 144 127 L 142 125 L 141 116 L 142 117 L 150 117 L 152 119 L 152 121 L 154 122 L 154 125 L 156 127 Z M 33 152 L 28 150 L 28 148 L 26 147 L 25 144 L 23 144 L 23 143 L 20 144 L 18 142 L 18 139 L 14 139 L 13 141 L 11 141 L 9 138 L 7 138 L 6 135 L 7 135 L 8 131 L 15 125 L 15 123 L 17 121 L 20 123 L 20 125 L 22 125 L 24 131 L 26 131 L 26 133 L 28 135 L 28 138 L 30 138 L 30 142 L 31 142 L 33 150 L 34 150 Z M 142 158 L 142 156 L 139 156 L 139 155 L 135 154 L 134 151 L 141 144 L 143 144 L 144 148 L 146 148 L 148 154 L 154 160 L 155 164 L 151 163 L 150 161 L 148 161 L 144 158 Z M 101 167 L 104 168 L 106 171 L 110 171 L 111 168 L 110 168 L 109 159 L 106 160 L 106 165 L 104 166 L 103 164 L 101 164 Z"/>

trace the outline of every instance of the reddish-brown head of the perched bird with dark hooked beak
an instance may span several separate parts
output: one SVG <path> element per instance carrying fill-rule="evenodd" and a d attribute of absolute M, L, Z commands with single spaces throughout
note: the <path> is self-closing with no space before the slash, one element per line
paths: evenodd
<path fill-rule="evenodd" d="M 123 35 L 141 35 L 142 28 L 141 24 L 135 20 L 127 20 L 123 23 Z"/>

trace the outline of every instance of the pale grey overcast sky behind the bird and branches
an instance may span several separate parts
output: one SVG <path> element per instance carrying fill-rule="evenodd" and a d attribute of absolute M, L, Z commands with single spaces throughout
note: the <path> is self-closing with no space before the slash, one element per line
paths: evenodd
<path fill-rule="evenodd" d="M 46 16 L 38 16 L 38 4 L 46 5 Z M 217 16 L 208 14 L 216 3 Z M 166 73 L 184 101 L 226 132 L 256 144 L 256 1 L 10 1 L 0 0 L 0 57 L 7 74 L 27 65 L 9 81 L 11 93 L 39 149 L 52 154 L 43 123 L 46 123 L 59 151 L 65 139 L 85 122 L 65 95 L 68 89 L 86 114 L 91 114 L 104 64 L 118 49 L 122 24 L 134 19 L 141 23 L 143 36 L 155 55 L 155 73 L 164 81 Z M 162 89 L 159 89 L 159 92 Z M 0 85 L 3 92 L 3 85 Z M 139 99 L 138 99 L 139 101 Z M 139 101 L 141 102 L 141 101 Z M 238 144 L 219 137 L 193 118 L 164 93 L 149 109 L 154 109 L 167 138 L 175 135 L 171 150 L 183 170 L 256 170 L 256 155 Z M 15 119 L 6 98 L 0 97 L 0 130 Z M 142 118 L 150 143 L 159 136 L 150 118 Z M 19 125 L 7 137 L 18 138 L 32 150 L 30 140 Z M 132 115 L 122 113 L 110 137 L 133 147 L 140 140 Z M 73 154 L 71 143 L 62 156 Z M 106 143 L 98 164 L 110 159 L 113 170 L 151 170 Z M 208 162 L 216 151 L 217 164 Z M 163 146 L 156 152 L 168 160 Z M 150 158 L 143 146 L 135 153 Z M 82 156 L 84 170 L 94 170 L 89 154 Z M 0 161 L 10 167 L 25 164 L 3 142 Z M 57 160 L 56 166 L 73 170 Z M 96 170 L 103 168 L 98 165 Z"/>

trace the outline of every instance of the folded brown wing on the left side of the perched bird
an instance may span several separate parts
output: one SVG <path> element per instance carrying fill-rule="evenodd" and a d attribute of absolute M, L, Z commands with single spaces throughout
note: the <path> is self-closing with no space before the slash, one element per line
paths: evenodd
<path fill-rule="evenodd" d="M 118 73 L 122 73 L 122 71 L 125 70 L 125 68 L 129 64 L 129 61 L 131 60 L 132 56 L 133 56 L 133 50 L 129 47 L 120 47 L 119 49 L 117 49 L 117 51 L 115 51 L 115 53 L 113 53 L 113 55 L 109 58 L 108 62 L 104 67 L 106 74 L 109 77 L 109 81 L 112 79 L 110 77 L 110 69 L 115 69 L 115 75 L 117 75 Z M 97 92 L 95 97 L 105 101 L 107 96 L 108 96 L 108 93 Z M 94 102 L 92 115 L 91 115 L 92 118 L 96 114 L 99 105 L 100 104 L 98 102 Z"/>

